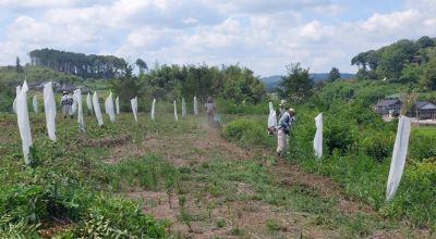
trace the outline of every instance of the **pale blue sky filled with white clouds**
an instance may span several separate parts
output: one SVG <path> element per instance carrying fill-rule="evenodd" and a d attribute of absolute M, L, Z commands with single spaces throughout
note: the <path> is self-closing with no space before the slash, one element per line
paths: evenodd
<path fill-rule="evenodd" d="M 0 0 L 0 65 L 53 48 L 261 76 L 294 62 L 354 73 L 356 53 L 424 35 L 436 37 L 434 0 Z"/>

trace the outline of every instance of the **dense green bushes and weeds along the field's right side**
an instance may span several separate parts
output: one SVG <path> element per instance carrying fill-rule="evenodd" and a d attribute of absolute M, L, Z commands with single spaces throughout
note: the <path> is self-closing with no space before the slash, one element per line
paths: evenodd
<path fill-rule="evenodd" d="M 396 122 L 386 123 L 365 104 L 332 101 L 325 109 L 298 108 L 298 124 L 290 138 L 288 160 L 306 172 L 334 178 L 346 191 L 391 218 L 435 229 L 436 137 L 415 130 L 411 135 L 404 176 L 395 199 L 385 202 L 386 180 L 396 135 Z M 313 153 L 317 112 L 324 114 L 324 159 Z M 266 121 L 266 120 L 265 120 Z M 262 146 L 265 122 L 235 120 L 223 136 L 242 144 Z M 258 130 L 256 130 L 258 128 Z M 426 210 L 424 210 L 426 209 Z"/>

